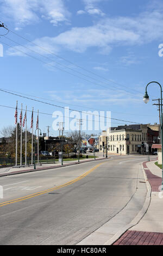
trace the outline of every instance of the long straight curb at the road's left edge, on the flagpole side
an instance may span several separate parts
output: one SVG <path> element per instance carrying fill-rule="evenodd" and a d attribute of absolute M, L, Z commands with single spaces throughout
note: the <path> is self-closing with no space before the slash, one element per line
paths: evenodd
<path fill-rule="evenodd" d="M 0 178 L 1 178 L 1 177 L 4 177 L 4 176 L 9 176 L 9 175 L 16 175 L 16 174 L 22 174 L 22 173 L 38 172 L 39 170 L 55 169 L 55 168 L 60 168 L 60 167 L 65 167 L 65 166 L 72 166 L 72 165 L 80 164 L 80 163 L 94 162 L 94 161 L 107 160 L 107 159 L 111 159 L 111 157 L 107 157 L 107 158 L 104 157 L 104 158 L 101 158 L 101 159 L 86 160 L 86 161 L 75 162 L 75 163 L 67 163 L 67 164 L 59 165 L 59 166 L 49 166 L 49 167 L 44 167 L 44 168 L 28 169 L 28 170 L 17 170 L 16 172 L 10 172 L 10 173 L 3 173 L 3 174 L 0 174 Z"/>

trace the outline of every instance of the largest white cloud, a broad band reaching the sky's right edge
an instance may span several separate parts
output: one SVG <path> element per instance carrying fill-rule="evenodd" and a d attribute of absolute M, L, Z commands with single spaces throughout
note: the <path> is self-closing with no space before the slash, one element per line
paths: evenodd
<path fill-rule="evenodd" d="M 134 46 L 148 44 L 153 40 L 162 40 L 162 23 L 162 11 L 151 10 L 135 17 L 120 16 L 102 19 L 95 25 L 73 27 L 55 37 L 47 36 L 34 42 L 52 52 L 66 49 L 82 53 L 88 48 L 94 47 L 97 52 L 108 54 L 113 47 Z M 36 46 L 28 46 L 40 51 Z M 13 50 L 10 51 L 13 53 Z M 43 50 L 41 53 L 47 54 Z M 131 64 L 132 61 L 131 58 L 126 58 L 128 64 L 129 62 Z"/>

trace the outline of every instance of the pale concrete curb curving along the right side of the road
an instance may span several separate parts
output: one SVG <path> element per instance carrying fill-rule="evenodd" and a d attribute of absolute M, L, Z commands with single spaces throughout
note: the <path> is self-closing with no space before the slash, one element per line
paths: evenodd
<path fill-rule="evenodd" d="M 144 162 L 143 162 L 144 163 Z M 146 214 L 148 208 L 149 208 L 149 204 L 151 203 L 151 192 L 152 192 L 152 187 L 148 181 L 147 175 L 145 173 L 145 170 L 143 168 L 143 163 L 141 163 L 141 168 L 143 170 L 143 174 L 145 176 L 145 180 L 146 180 L 146 184 L 147 184 L 147 196 L 146 196 L 146 200 L 145 203 L 142 207 L 142 209 L 140 210 L 139 214 L 136 215 L 136 217 L 134 218 L 133 221 L 131 221 L 128 225 L 126 225 L 124 228 L 120 229 L 111 239 L 109 239 L 107 242 L 104 243 L 104 245 L 112 245 L 113 243 L 115 243 L 118 239 L 120 239 L 120 237 L 130 228 L 134 227 L 134 225 L 136 225 L 137 223 L 139 223 L 141 221 L 141 219 L 143 218 L 143 216 Z"/>

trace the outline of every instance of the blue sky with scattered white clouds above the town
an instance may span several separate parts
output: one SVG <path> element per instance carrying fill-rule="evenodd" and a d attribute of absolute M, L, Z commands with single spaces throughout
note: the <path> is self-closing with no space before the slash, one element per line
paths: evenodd
<path fill-rule="evenodd" d="M 0 38 L 4 48 L 0 88 L 77 111 L 111 111 L 111 118 L 124 120 L 112 120 L 112 126 L 129 124 L 127 121 L 159 123 L 152 99 L 160 97 L 160 88 L 156 84 L 148 87 L 151 101 L 147 105 L 142 98 L 148 82 L 163 86 L 163 57 L 158 54 L 163 43 L 161 0 L 0 3 L 0 20 L 10 31 Z M 1 105 L 15 107 L 16 100 L 19 108 L 23 103 L 23 108 L 27 105 L 29 110 L 34 107 L 43 113 L 62 111 L 1 92 Z M 0 109 L 0 130 L 14 125 L 15 110 Z M 31 113 L 29 128 L 30 117 Z M 51 115 L 40 114 L 39 120 L 42 132 L 51 126 L 50 135 L 58 134 L 53 131 Z"/>

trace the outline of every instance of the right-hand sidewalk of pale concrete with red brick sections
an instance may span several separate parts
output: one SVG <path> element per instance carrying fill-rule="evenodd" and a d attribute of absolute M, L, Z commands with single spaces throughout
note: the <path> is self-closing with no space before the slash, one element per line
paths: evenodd
<path fill-rule="evenodd" d="M 129 228 L 113 245 L 163 245 L 163 192 L 160 192 L 162 170 L 154 163 L 144 162 L 148 191 L 151 202 L 142 219 Z"/>

